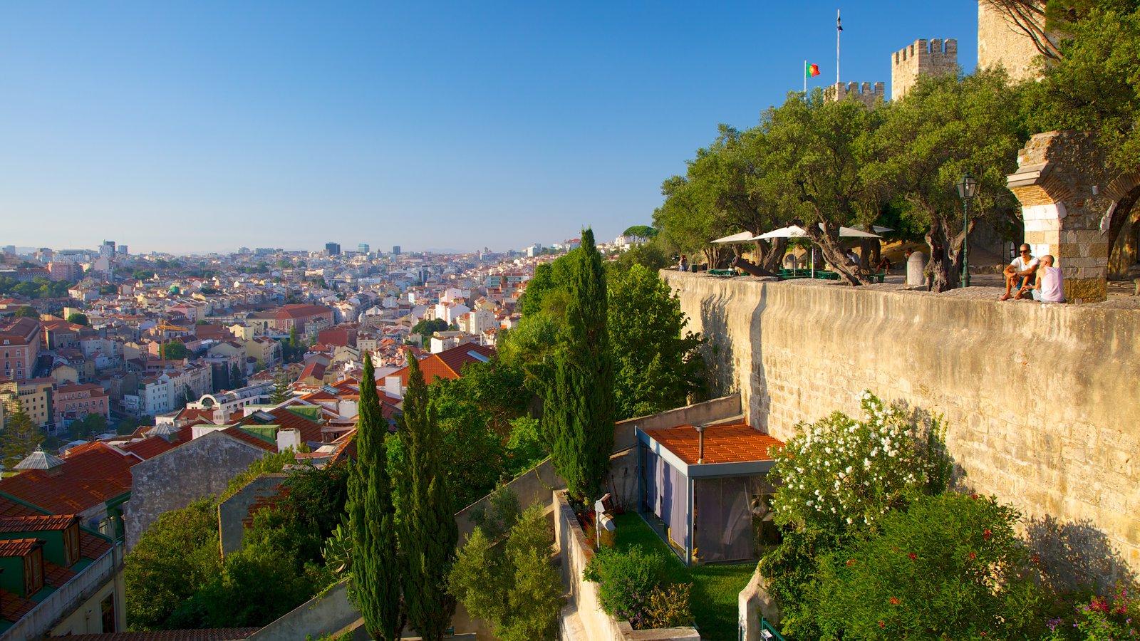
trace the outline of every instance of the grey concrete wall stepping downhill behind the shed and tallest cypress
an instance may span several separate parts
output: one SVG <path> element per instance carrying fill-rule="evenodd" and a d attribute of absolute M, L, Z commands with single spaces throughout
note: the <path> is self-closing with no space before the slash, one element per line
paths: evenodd
<path fill-rule="evenodd" d="M 732 393 L 723 398 L 714 398 L 703 403 L 695 403 L 685 407 L 678 407 L 652 416 L 640 416 L 619 422 L 613 431 L 613 452 L 610 463 L 610 486 L 616 494 L 619 505 L 632 504 L 637 492 L 636 456 L 632 453 L 625 455 L 626 451 L 636 443 L 634 428 L 643 430 L 656 428 L 674 428 L 677 425 L 691 425 L 697 423 L 711 423 L 723 421 L 740 414 L 740 396 Z M 554 463 L 549 459 L 543 461 L 529 472 L 508 482 L 506 487 L 519 498 L 519 504 L 526 509 L 535 503 L 548 504 L 551 490 L 565 489 L 565 481 L 554 471 Z M 471 521 L 472 514 L 479 510 L 486 510 L 489 501 L 483 497 L 471 505 L 467 505 L 455 514 L 455 520 L 459 525 L 459 541 L 464 541 L 474 529 Z"/>

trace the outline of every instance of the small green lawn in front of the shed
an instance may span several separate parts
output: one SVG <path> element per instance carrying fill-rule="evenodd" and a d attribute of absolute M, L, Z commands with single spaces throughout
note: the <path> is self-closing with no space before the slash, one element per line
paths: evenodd
<path fill-rule="evenodd" d="M 752 578 L 756 563 L 706 565 L 686 568 L 663 541 L 636 513 L 614 518 L 618 526 L 618 549 L 641 545 L 669 558 L 670 578 L 692 583 L 691 606 L 701 639 L 735 641 L 736 595 Z"/>

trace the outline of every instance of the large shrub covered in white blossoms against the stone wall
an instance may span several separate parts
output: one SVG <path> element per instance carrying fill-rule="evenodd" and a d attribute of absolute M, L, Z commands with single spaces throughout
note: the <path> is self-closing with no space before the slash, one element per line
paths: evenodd
<path fill-rule="evenodd" d="M 816 558 L 855 536 L 874 532 L 890 510 L 946 488 L 950 462 L 942 425 L 918 421 L 901 406 L 863 392 L 863 417 L 836 412 L 798 433 L 775 453 L 772 500 L 783 541 L 765 554 L 760 570 L 783 609 L 784 631 L 819 635 L 803 607 Z"/>

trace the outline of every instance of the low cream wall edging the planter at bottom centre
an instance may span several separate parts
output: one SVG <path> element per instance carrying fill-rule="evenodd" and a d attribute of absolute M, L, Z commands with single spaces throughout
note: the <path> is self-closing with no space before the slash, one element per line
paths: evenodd
<path fill-rule="evenodd" d="M 565 496 L 554 493 L 555 545 L 562 557 L 562 581 L 569 587 L 570 602 L 562 610 L 561 635 L 565 641 L 610 640 L 699 640 L 692 627 L 634 631 L 629 622 L 619 622 L 606 615 L 597 602 L 597 584 L 584 581 L 581 573 L 594 557 L 586 544 L 586 533 L 578 525 Z"/>

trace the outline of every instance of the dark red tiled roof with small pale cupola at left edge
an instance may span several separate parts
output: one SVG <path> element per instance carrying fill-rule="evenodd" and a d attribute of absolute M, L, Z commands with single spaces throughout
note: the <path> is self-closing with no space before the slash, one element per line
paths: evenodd
<path fill-rule="evenodd" d="M 101 441 L 73 447 L 64 464 L 51 470 L 24 470 L 0 480 L 0 493 L 51 514 L 76 514 L 131 490 L 131 465 L 139 457 Z"/>

